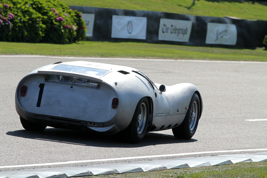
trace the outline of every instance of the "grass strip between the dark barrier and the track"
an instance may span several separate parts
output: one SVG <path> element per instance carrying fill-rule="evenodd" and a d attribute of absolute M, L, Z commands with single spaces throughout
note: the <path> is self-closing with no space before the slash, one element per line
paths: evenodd
<path fill-rule="evenodd" d="M 190 47 L 135 42 L 82 41 L 78 44 L 0 42 L 1 55 L 47 55 L 188 60 L 267 61 L 263 49 Z"/>

